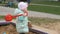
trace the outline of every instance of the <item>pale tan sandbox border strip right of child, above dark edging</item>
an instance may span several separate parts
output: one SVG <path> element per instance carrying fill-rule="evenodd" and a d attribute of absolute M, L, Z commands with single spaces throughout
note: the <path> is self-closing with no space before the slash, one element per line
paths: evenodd
<path fill-rule="evenodd" d="M 58 32 L 55 30 L 46 29 L 46 28 L 39 27 L 36 25 L 33 25 L 32 29 L 39 31 L 39 32 L 42 32 L 42 34 L 44 34 L 44 33 L 45 34 L 58 34 Z"/>

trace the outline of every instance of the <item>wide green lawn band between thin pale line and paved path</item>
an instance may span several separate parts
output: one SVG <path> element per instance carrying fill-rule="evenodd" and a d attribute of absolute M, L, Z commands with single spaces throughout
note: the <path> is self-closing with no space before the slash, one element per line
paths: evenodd
<path fill-rule="evenodd" d="M 30 5 L 28 7 L 28 10 L 38 11 L 38 12 L 46 12 L 46 13 L 52 13 L 52 14 L 60 15 L 60 7 Z"/>

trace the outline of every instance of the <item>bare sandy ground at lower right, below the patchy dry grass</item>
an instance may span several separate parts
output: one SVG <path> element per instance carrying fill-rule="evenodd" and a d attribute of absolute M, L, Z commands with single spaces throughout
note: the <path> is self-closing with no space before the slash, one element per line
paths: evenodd
<path fill-rule="evenodd" d="M 50 29 L 50 30 L 54 30 L 54 31 L 58 32 L 58 34 L 60 34 L 60 22 L 49 23 L 49 24 L 40 24 L 37 26 L 44 27 L 44 28 Z"/>

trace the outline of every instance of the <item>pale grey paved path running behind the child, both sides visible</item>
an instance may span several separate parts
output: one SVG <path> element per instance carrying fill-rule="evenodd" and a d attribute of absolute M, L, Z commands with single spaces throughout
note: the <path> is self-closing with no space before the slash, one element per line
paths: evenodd
<path fill-rule="evenodd" d="M 14 10 L 15 10 L 14 8 L 0 6 L 0 15 L 6 15 L 8 13 L 13 15 Z M 29 16 L 30 17 L 43 17 L 43 18 L 60 19 L 60 15 L 43 13 L 43 12 L 35 12 L 35 11 L 29 11 Z"/>

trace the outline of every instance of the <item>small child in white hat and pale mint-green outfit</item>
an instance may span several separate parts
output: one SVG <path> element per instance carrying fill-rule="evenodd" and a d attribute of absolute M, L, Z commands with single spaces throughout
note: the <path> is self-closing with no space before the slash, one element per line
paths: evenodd
<path fill-rule="evenodd" d="M 16 29 L 19 34 L 25 34 L 29 32 L 27 7 L 28 3 L 26 0 L 20 0 L 18 8 L 15 9 Z"/>

